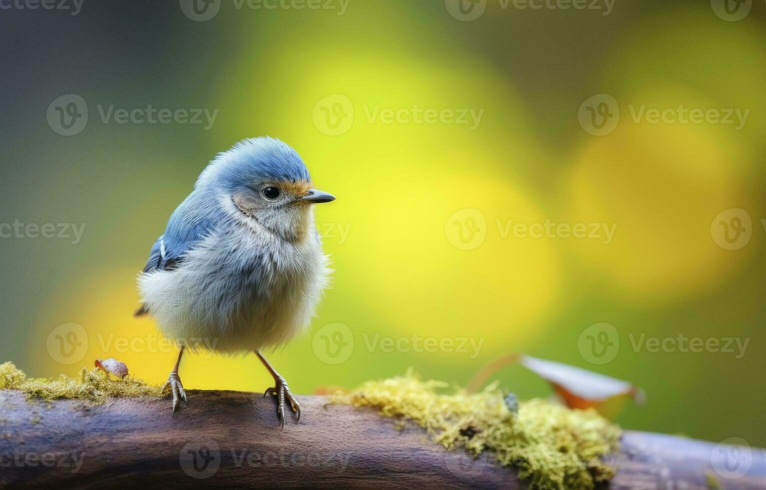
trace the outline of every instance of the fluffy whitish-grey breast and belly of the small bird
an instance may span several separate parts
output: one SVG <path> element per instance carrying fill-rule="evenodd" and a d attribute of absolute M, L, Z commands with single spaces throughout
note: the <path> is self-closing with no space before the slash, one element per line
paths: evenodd
<path fill-rule="evenodd" d="M 139 277 L 165 336 L 235 353 L 277 346 L 308 327 L 330 273 L 313 220 L 296 242 L 250 221 L 212 232 L 178 268 Z"/>

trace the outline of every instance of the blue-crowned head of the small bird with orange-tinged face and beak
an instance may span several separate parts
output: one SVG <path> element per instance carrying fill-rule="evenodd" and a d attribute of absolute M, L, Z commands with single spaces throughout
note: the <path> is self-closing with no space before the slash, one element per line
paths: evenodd
<path fill-rule="evenodd" d="M 195 189 L 214 192 L 225 206 L 283 238 L 303 235 L 309 204 L 335 199 L 314 189 L 309 170 L 292 147 L 268 136 L 242 140 L 200 174 Z"/>

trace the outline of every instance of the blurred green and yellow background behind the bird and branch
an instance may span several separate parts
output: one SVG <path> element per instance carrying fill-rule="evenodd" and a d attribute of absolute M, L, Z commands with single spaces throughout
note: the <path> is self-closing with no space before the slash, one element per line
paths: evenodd
<path fill-rule="evenodd" d="M 116 357 L 164 382 L 175 351 L 132 317 L 136 275 L 205 164 L 270 135 L 339 198 L 316 209 L 333 288 L 309 334 L 271 357 L 296 393 L 408 367 L 464 385 L 523 352 L 642 386 L 648 404 L 618 419 L 630 429 L 766 446 L 766 5 L 745 2 L 739 18 L 715 0 L 671 3 L 0 12 L 0 222 L 85 225 L 79 241 L 0 227 L 0 360 L 51 377 Z M 216 117 L 149 123 L 149 104 Z M 681 123 L 679 105 L 713 113 Z M 102 117 L 110 106 L 137 118 Z M 616 229 L 513 232 L 546 220 Z M 586 329 L 604 322 L 619 346 L 589 351 Z M 644 344 L 679 334 L 747 344 Z M 253 356 L 188 356 L 181 373 L 189 389 L 270 386 Z M 520 367 L 493 378 L 522 398 L 552 393 Z"/>

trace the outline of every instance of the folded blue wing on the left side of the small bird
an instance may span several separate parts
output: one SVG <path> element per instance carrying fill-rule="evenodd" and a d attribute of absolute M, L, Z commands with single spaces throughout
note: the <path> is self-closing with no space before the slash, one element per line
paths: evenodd
<path fill-rule="evenodd" d="M 195 248 L 225 219 L 215 202 L 200 192 L 191 192 L 170 216 L 165 233 L 157 238 L 149 251 L 144 273 L 178 267 L 186 252 Z M 142 306 L 136 316 L 147 313 Z"/>

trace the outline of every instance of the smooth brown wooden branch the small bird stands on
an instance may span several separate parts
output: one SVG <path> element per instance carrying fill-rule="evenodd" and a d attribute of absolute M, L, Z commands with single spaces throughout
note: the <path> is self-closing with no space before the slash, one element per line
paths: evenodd
<path fill-rule="evenodd" d="M 372 409 L 325 406 L 302 396 L 300 423 L 277 424 L 260 394 L 190 391 L 170 418 L 168 399 L 109 400 L 102 406 L 27 401 L 0 392 L 0 486 L 113 488 L 526 488 L 491 456 L 446 451 L 423 430 L 398 430 Z M 724 452 L 675 436 L 626 432 L 610 488 L 766 488 L 766 464 L 752 450 L 741 478 L 716 475 Z M 720 449 L 720 448 L 719 448 Z M 733 460 L 732 460 L 733 461 Z M 732 461 L 728 463 L 732 465 Z M 731 467 L 731 466 L 730 466 Z"/>

